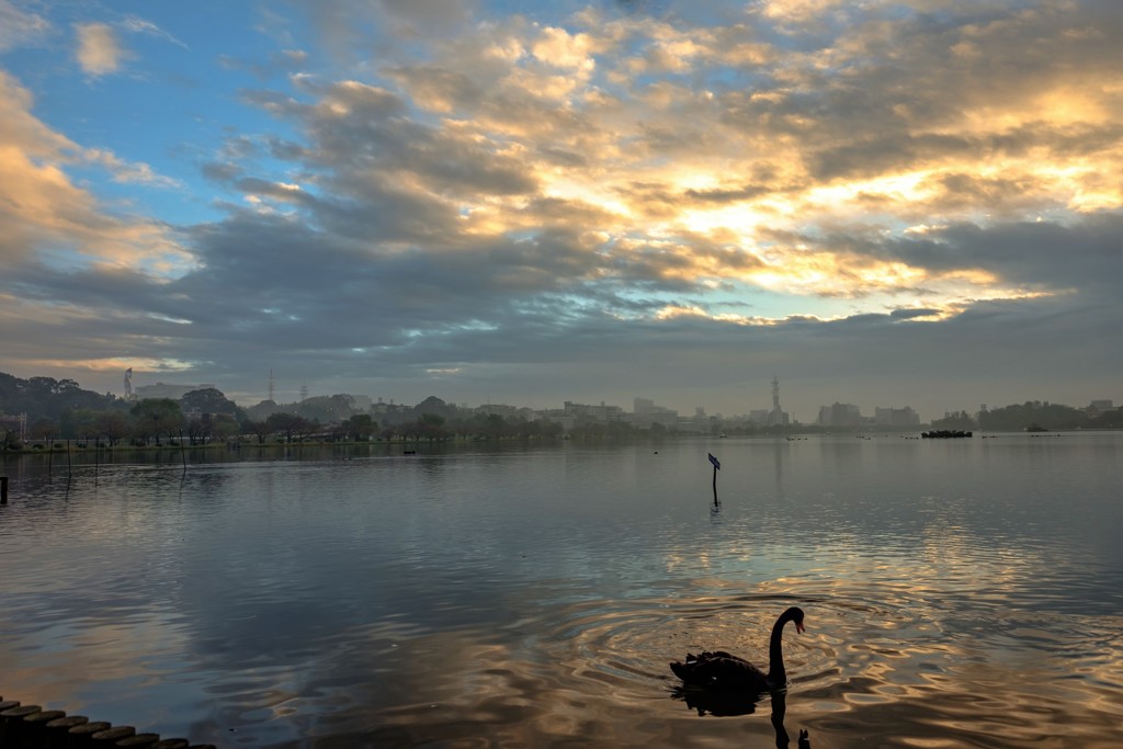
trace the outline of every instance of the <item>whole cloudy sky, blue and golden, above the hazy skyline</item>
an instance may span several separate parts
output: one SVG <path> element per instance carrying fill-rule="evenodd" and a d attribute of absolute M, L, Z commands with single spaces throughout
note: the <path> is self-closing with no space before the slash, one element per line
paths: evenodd
<path fill-rule="evenodd" d="M 1123 402 L 1116 0 L 0 0 L 0 371 Z"/>

